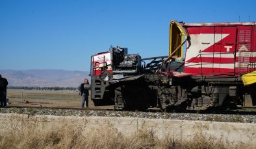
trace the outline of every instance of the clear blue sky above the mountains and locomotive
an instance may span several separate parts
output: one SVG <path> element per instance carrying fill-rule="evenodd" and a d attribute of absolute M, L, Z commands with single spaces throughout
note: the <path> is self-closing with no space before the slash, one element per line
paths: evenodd
<path fill-rule="evenodd" d="M 110 45 L 142 58 L 164 56 L 171 20 L 256 21 L 255 6 L 255 0 L 0 0 L 0 69 L 89 71 L 90 56 Z"/>

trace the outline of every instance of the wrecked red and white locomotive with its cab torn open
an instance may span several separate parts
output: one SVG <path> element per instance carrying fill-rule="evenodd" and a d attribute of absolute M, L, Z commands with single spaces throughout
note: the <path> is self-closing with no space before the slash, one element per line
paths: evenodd
<path fill-rule="evenodd" d="M 256 105 L 255 23 L 170 23 L 169 56 L 110 47 L 92 56 L 96 106 L 225 109 Z"/>

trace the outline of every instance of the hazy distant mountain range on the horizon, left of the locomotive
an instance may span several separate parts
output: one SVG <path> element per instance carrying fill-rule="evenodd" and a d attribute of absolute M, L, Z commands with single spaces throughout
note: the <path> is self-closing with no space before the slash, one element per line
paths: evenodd
<path fill-rule="evenodd" d="M 28 87 L 78 87 L 84 78 L 90 80 L 88 71 L 66 71 L 57 69 L 29 69 L 23 71 L 0 70 L 8 86 Z"/>

